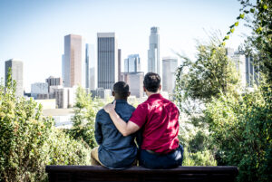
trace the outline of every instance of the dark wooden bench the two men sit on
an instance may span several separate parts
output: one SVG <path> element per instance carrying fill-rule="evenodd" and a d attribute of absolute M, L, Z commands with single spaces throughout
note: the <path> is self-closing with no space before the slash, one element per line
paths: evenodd
<path fill-rule="evenodd" d="M 100 166 L 46 166 L 49 182 L 89 181 L 216 181 L 232 182 L 238 175 L 237 167 L 179 167 L 148 169 L 131 167 L 124 170 Z"/>

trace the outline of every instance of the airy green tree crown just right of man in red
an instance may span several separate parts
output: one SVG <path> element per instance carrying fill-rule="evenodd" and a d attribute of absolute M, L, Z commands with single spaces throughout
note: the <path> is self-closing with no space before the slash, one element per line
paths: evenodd
<path fill-rule="evenodd" d="M 181 56 L 183 63 L 177 71 L 176 99 L 208 102 L 220 91 L 235 92 L 238 86 L 238 72 L 234 62 L 228 59 L 225 47 L 219 47 L 217 35 L 209 37 L 209 43 L 198 43 L 197 60 Z"/>

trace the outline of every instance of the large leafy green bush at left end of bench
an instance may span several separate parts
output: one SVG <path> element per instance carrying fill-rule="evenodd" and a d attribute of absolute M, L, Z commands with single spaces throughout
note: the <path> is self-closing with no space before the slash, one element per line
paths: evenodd
<path fill-rule="evenodd" d="M 0 136 L 0 181 L 44 181 L 46 165 L 90 161 L 88 148 L 55 129 L 41 105 L 15 97 L 10 74 L 0 84 Z"/>

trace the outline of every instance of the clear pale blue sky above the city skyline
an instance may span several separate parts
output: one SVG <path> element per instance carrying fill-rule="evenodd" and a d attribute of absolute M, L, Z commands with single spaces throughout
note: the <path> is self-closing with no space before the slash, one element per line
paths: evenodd
<path fill-rule="evenodd" d="M 139 53 L 147 66 L 151 26 L 160 27 L 160 56 L 172 50 L 194 58 L 196 39 L 206 31 L 226 34 L 239 14 L 237 0 L 0 0 L 0 77 L 5 61 L 24 62 L 24 88 L 62 75 L 63 36 L 81 34 L 96 48 L 96 33 L 115 32 L 122 60 Z M 237 48 L 243 26 L 228 46 Z"/>

